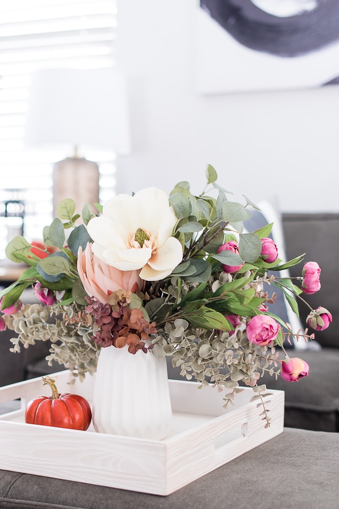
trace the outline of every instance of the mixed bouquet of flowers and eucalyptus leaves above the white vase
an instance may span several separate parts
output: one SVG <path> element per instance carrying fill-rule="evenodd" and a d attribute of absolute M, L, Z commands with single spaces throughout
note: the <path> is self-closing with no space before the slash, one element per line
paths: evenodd
<path fill-rule="evenodd" d="M 225 406 L 241 390 L 240 381 L 261 397 L 265 371 L 287 381 L 307 376 L 308 364 L 289 358 L 284 344 L 314 334 L 292 331 L 270 312 L 276 294 L 269 296 L 265 286 L 281 288 L 298 314 L 296 297 L 319 290 L 320 268 L 304 264 L 300 287 L 280 277 L 303 255 L 283 263 L 269 238 L 272 224 L 244 233 L 257 207 L 246 197 L 245 205 L 229 201 L 227 193 L 209 165 L 199 196 L 188 182 L 169 196 L 156 188 L 120 194 L 96 204 L 97 215 L 86 204 L 79 225 L 74 202 L 61 202 L 43 244 L 16 237 L 7 246 L 9 260 L 28 265 L 0 294 L 0 328 L 18 334 L 12 351 L 50 340 L 49 362 L 81 379 L 95 372 L 101 348 L 172 356 L 186 379 L 226 388 Z M 21 293 L 30 286 L 41 302 L 22 305 Z M 307 324 L 322 330 L 331 320 L 319 307 L 310 310 Z M 264 419 L 268 426 L 266 412 Z"/>

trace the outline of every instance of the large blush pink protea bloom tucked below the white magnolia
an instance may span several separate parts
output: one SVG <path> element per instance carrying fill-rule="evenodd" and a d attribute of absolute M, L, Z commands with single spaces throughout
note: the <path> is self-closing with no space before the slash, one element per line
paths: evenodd
<path fill-rule="evenodd" d="M 78 272 L 87 295 L 103 304 L 117 290 L 142 291 L 145 285 L 140 270 L 119 270 L 108 265 L 92 253 L 91 244 L 87 244 L 85 251 L 79 248 Z"/>

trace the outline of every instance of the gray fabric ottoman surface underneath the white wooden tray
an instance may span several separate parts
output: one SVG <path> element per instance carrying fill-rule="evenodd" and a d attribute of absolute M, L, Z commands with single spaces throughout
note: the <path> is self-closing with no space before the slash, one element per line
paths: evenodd
<path fill-rule="evenodd" d="M 337 509 L 339 435 L 284 433 L 167 497 L 0 471 L 0 507 L 17 509 Z"/>

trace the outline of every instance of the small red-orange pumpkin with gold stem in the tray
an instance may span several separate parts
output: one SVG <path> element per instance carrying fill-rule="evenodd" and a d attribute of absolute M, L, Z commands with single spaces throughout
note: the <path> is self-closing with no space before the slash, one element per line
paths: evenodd
<path fill-rule="evenodd" d="M 90 425 L 92 412 L 88 401 L 78 394 L 59 394 L 55 380 L 42 377 L 44 385 L 52 389 L 52 395 L 32 399 L 25 411 L 25 422 L 42 426 L 54 426 L 85 431 Z"/>

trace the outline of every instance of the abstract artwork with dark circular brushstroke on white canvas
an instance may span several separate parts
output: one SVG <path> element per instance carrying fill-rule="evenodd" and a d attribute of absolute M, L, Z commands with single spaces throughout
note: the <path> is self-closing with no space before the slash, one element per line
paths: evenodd
<path fill-rule="evenodd" d="M 339 83 L 339 0 L 200 0 L 198 92 Z"/>

